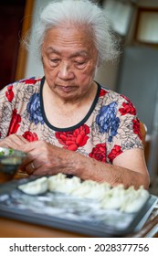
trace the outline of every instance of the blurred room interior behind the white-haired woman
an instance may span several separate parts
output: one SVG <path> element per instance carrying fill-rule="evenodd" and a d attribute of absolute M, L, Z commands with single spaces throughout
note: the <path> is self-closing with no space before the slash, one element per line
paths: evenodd
<path fill-rule="evenodd" d="M 50 0 L 5 0 L 0 4 L 0 89 L 15 80 L 43 75 L 34 51 L 21 37 L 34 27 Z M 147 127 L 145 158 L 151 190 L 158 195 L 158 0 L 96 0 L 111 19 L 121 56 L 98 69 L 95 80 L 129 97 Z"/>

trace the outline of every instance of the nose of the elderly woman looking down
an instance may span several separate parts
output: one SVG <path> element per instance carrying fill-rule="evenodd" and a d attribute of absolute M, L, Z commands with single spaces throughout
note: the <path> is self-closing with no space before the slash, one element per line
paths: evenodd
<path fill-rule="evenodd" d="M 58 70 L 58 78 L 62 80 L 71 80 L 74 78 L 73 69 L 68 62 L 61 62 Z"/>

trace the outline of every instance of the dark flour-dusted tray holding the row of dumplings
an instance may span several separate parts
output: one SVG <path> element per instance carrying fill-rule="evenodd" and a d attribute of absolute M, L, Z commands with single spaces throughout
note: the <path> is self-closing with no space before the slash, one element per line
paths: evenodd
<path fill-rule="evenodd" d="M 142 229 L 158 200 L 150 195 L 138 212 L 127 214 L 119 210 L 101 210 L 96 201 L 61 193 L 28 196 L 17 189 L 19 184 L 26 181 L 28 179 L 20 179 L 0 186 L 1 217 L 90 237 L 123 237 Z"/>

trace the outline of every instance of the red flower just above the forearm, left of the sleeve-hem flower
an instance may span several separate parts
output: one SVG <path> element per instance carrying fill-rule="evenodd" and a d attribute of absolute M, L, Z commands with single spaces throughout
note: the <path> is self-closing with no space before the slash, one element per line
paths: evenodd
<path fill-rule="evenodd" d="M 89 156 L 100 162 L 106 163 L 106 152 L 106 144 L 96 144 Z"/>

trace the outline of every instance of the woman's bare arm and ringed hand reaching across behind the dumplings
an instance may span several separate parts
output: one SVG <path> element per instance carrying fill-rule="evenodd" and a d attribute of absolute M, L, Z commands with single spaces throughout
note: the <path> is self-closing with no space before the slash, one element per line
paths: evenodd
<path fill-rule="evenodd" d="M 30 155 L 24 166 L 29 175 L 55 175 L 61 172 L 79 176 L 83 180 L 108 182 L 111 186 L 121 183 L 125 187 L 149 187 L 149 175 L 142 149 L 131 149 L 118 155 L 113 165 L 42 141 L 22 144 L 20 149 Z"/>

